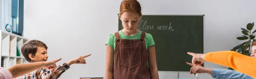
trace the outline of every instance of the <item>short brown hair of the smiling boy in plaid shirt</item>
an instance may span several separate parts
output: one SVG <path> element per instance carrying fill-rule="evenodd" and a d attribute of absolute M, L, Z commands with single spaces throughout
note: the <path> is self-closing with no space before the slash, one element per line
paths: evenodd
<path fill-rule="evenodd" d="M 23 56 L 25 57 L 27 62 L 30 62 L 31 59 L 29 58 L 29 54 L 32 54 L 35 56 L 35 53 L 38 49 L 38 47 L 45 48 L 47 50 L 47 46 L 44 44 L 44 42 L 41 42 L 39 40 L 30 40 L 21 47 L 21 52 Z"/>

